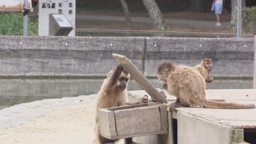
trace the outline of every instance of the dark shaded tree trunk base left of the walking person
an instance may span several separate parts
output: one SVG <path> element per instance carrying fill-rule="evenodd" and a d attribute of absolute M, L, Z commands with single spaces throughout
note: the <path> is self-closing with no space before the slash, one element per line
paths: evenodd
<path fill-rule="evenodd" d="M 207 12 L 206 0 L 191 0 L 191 12 L 194 12 L 194 13 Z"/>

